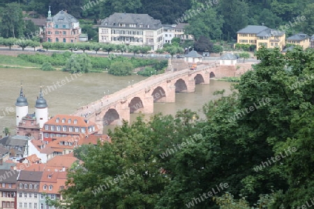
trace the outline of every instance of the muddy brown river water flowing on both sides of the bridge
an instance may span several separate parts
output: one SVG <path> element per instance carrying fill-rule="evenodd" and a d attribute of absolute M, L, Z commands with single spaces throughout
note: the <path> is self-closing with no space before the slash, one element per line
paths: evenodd
<path fill-rule="evenodd" d="M 47 100 L 49 116 L 55 114 L 73 114 L 77 107 L 98 100 L 114 93 L 129 84 L 140 82 L 146 77 L 131 75 L 115 77 L 106 72 L 88 73 L 81 76 L 70 75 L 68 72 L 45 72 L 25 68 L 0 68 L 0 128 L 8 127 L 15 133 L 15 102 L 20 95 L 20 83 L 23 93 L 29 102 L 29 113 L 35 111 L 34 105 L 43 86 L 44 98 Z M 209 100 L 215 100 L 218 95 L 214 91 L 225 89 L 225 95 L 230 93 L 230 82 L 211 80 L 208 85 L 196 85 L 195 93 L 176 93 L 174 103 L 154 103 L 154 114 L 175 114 L 180 109 L 192 109 L 202 116 L 202 106 Z M 50 86 L 48 88 L 47 86 Z M 130 122 L 138 114 L 131 114 Z M 146 115 L 145 118 L 149 118 Z M 105 128 L 105 132 L 108 126 Z"/>

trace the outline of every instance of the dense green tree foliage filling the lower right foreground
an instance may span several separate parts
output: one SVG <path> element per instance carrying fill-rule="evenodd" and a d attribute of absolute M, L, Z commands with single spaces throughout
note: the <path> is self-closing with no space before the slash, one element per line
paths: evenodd
<path fill-rule="evenodd" d="M 257 56 L 261 63 L 237 91 L 220 91 L 204 105 L 204 119 L 188 110 L 137 118 L 109 133 L 112 144 L 77 148 L 84 163 L 70 169 L 68 208 L 297 208 L 311 201 L 314 52 L 262 48 Z M 283 157 L 289 148 L 295 151 Z M 135 175 L 94 194 L 127 169 Z M 194 202 L 220 183 L 229 187 Z"/>

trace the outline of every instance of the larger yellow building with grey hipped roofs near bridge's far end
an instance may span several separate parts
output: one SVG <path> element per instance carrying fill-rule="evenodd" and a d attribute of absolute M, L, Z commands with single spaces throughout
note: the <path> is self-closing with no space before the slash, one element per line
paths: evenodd
<path fill-rule="evenodd" d="M 257 50 L 262 45 L 282 50 L 285 46 L 285 32 L 269 29 L 267 26 L 248 25 L 237 32 L 237 43 L 256 45 Z"/>

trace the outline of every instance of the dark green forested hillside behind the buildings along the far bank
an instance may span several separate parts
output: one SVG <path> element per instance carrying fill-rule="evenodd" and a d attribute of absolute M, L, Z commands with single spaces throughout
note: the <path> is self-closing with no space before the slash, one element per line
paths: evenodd
<path fill-rule="evenodd" d="M 0 7 L 6 3 L 16 2 L 3 0 Z M 314 0 L 19 0 L 22 10 L 34 10 L 47 16 L 48 6 L 52 6 L 52 15 L 59 10 L 79 19 L 96 20 L 108 17 L 114 12 L 148 13 L 161 20 L 163 24 L 174 24 L 178 18 L 184 17 L 188 11 L 192 13 L 184 22 L 192 25 L 189 29 L 196 38 L 205 36 L 210 39 L 232 40 L 236 32 L 248 24 L 264 24 L 276 29 L 279 26 L 293 22 L 294 17 L 304 15 L 306 21 L 293 26 L 287 35 L 303 31 L 314 33 Z M 3 10 L 4 8 L 2 8 Z"/>

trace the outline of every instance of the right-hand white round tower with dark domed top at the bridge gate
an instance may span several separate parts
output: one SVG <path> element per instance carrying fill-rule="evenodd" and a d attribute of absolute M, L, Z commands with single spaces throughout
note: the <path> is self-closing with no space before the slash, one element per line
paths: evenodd
<path fill-rule="evenodd" d="M 40 86 L 39 98 L 36 100 L 35 104 L 35 116 L 36 122 L 39 127 L 42 128 L 44 123 L 48 121 L 48 105 L 46 100 L 43 98 L 43 91 Z"/>

